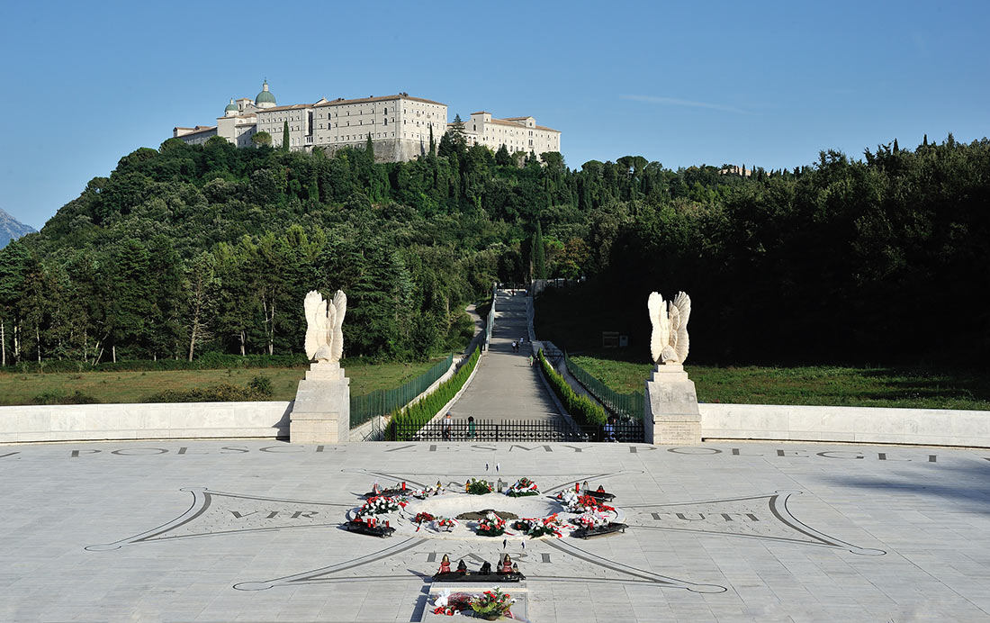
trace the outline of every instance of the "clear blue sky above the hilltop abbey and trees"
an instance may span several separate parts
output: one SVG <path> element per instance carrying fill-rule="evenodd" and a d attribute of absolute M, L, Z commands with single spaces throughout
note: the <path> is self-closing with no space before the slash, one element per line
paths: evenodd
<path fill-rule="evenodd" d="M 407 91 L 533 115 L 568 165 L 793 167 L 990 135 L 990 2 L 0 0 L 0 208 L 40 228 L 267 77 L 279 104 Z"/>

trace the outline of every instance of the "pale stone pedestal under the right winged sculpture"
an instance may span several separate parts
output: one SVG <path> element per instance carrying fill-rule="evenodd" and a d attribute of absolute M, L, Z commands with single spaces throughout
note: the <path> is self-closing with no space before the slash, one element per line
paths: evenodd
<path fill-rule="evenodd" d="M 700 444 L 701 413 L 694 381 L 683 365 L 659 364 L 646 381 L 647 444 Z"/>

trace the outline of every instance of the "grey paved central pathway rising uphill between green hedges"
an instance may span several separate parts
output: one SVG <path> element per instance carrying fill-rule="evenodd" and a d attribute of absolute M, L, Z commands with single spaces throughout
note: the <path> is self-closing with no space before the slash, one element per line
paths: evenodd
<path fill-rule="evenodd" d="M 547 420 L 559 418 L 539 370 L 530 367 L 531 351 L 513 353 L 512 341 L 527 335 L 526 297 L 499 290 L 495 328 L 488 352 L 460 399 L 450 409 L 454 419 Z M 527 345 L 528 346 L 528 345 Z"/>

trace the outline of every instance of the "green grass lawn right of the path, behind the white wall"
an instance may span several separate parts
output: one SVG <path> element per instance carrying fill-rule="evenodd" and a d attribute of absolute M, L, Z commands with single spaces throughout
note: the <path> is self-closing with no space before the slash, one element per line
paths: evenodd
<path fill-rule="evenodd" d="M 616 391 L 642 392 L 648 363 L 572 357 Z M 979 370 L 911 367 L 715 367 L 685 365 L 701 402 L 990 410 Z"/>

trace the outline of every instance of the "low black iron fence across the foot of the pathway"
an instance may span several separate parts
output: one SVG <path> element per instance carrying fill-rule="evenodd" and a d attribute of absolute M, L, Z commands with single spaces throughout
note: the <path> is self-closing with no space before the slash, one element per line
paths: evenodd
<path fill-rule="evenodd" d="M 434 421 L 423 428 L 397 424 L 396 441 L 414 442 L 619 442 L 643 443 L 641 422 L 571 426 L 558 420 Z"/>

